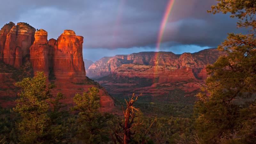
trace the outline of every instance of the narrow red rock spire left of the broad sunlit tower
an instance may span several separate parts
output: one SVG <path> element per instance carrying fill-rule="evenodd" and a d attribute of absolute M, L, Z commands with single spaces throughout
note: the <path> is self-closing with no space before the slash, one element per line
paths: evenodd
<path fill-rule="evenodd" d="M 35 33 L 35 41 L 30 46 L 30 59 L 34 74 L 37 71 L 44 71 L 45 75 L 49 74 L 49 46 L 47 41 L 47 32 L 39 29 Z"/>

